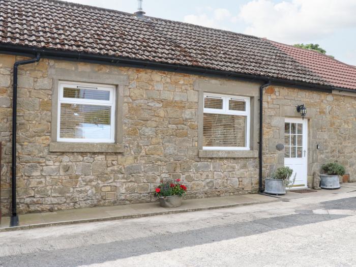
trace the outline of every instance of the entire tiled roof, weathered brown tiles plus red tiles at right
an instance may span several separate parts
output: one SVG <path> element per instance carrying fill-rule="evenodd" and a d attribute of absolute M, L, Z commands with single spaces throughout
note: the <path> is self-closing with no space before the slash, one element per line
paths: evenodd
<path fill-rule="evenodd" d="M 0 1 L 0 44 L 84 52 L 356 90 L 356 69 L 262 38 L 56 0 Z"/>

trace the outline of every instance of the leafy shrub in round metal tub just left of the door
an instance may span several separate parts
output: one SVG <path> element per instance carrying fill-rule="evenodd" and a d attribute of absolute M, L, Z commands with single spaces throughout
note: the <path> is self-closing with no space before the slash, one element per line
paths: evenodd
<path fill-rule="evenodd" d="M 290 188 L 294 184 L 296 174 L 291 179 L 292 173 L 293 170 L 289 167 L 279 167 L 271 177 L 264 180 L 264 193 L 284 195 L 286 193 L 285 188 Z"/>

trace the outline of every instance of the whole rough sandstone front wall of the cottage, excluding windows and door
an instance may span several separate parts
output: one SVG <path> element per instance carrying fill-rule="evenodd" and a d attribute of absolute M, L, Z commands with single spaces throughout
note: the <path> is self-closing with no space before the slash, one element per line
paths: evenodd
<path fill-rule="evenodd" d="M 4 215 L 9 214 L 11 204 L 12 67 L 15 60 L 22 59 L 0 55 Z M 56 71 L 78 72 L 87 77 L 94 73 L 127 77 L 121 107 L 124 153 L 49 152 L 54 87 L 50 73 Z M 187 198 L 257 192 L 255 156 L 199 157 L 199 93 L 194 89 L 197 80 L 211 83 L 212 88 L 214 84 L 235 84 L 236 95 L 243 89 L 238 81 L 146 69 L 46 59 L 21 66 L 17 138 L 19 212 L 155 201 L 154 189 L 165 178 L 183 180 L 188 187 Z M 244 89 L 249 91 L 248 87 Z M 277 86 L 266 88 L 264 95 L 263 176 L 275 166 L 283 165 L 284 151 L 277 151 L 276 144 L 284 143 L 284 118 L 300 117 L 295 106 L 302 103 L 308 109 L 308 175 L 320 171 L 323 163 L 338 160 L 346 166 L 351 180 L 356 181 L 356 99 Z M 258 121 L 254 124 L 258 125 Z M 116 198 L 107 199 L 106 193 L 116 193 Z"/>

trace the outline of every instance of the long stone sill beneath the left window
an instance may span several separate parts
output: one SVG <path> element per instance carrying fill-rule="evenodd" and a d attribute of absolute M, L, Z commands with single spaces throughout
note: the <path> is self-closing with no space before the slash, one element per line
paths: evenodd
<path fill-rule="evenodd" d="M 49 143 L 50 152 L 123 153 L 124 145 L 115 143 Z"/>

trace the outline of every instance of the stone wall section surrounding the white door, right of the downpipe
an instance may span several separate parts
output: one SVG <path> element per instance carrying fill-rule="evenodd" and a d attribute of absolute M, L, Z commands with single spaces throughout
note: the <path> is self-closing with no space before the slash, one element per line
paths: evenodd
<path fill-rule="evenodd" d="M 308 186 L 312 176 L 321 171 L 321 165 L 338 161 L 356 182 L 356 97 L 351 93 L 341 95 L 269 86 L 263 102 L 263 176 L 274 166 L 284 164 L 284 150 L 277 151 L 276 144 L 284 144 L 285 117 L 301 117 L 296 106 L 305 104 L 308 120 Z M 317 150 L 317 144 L 320 149 Z"/>

